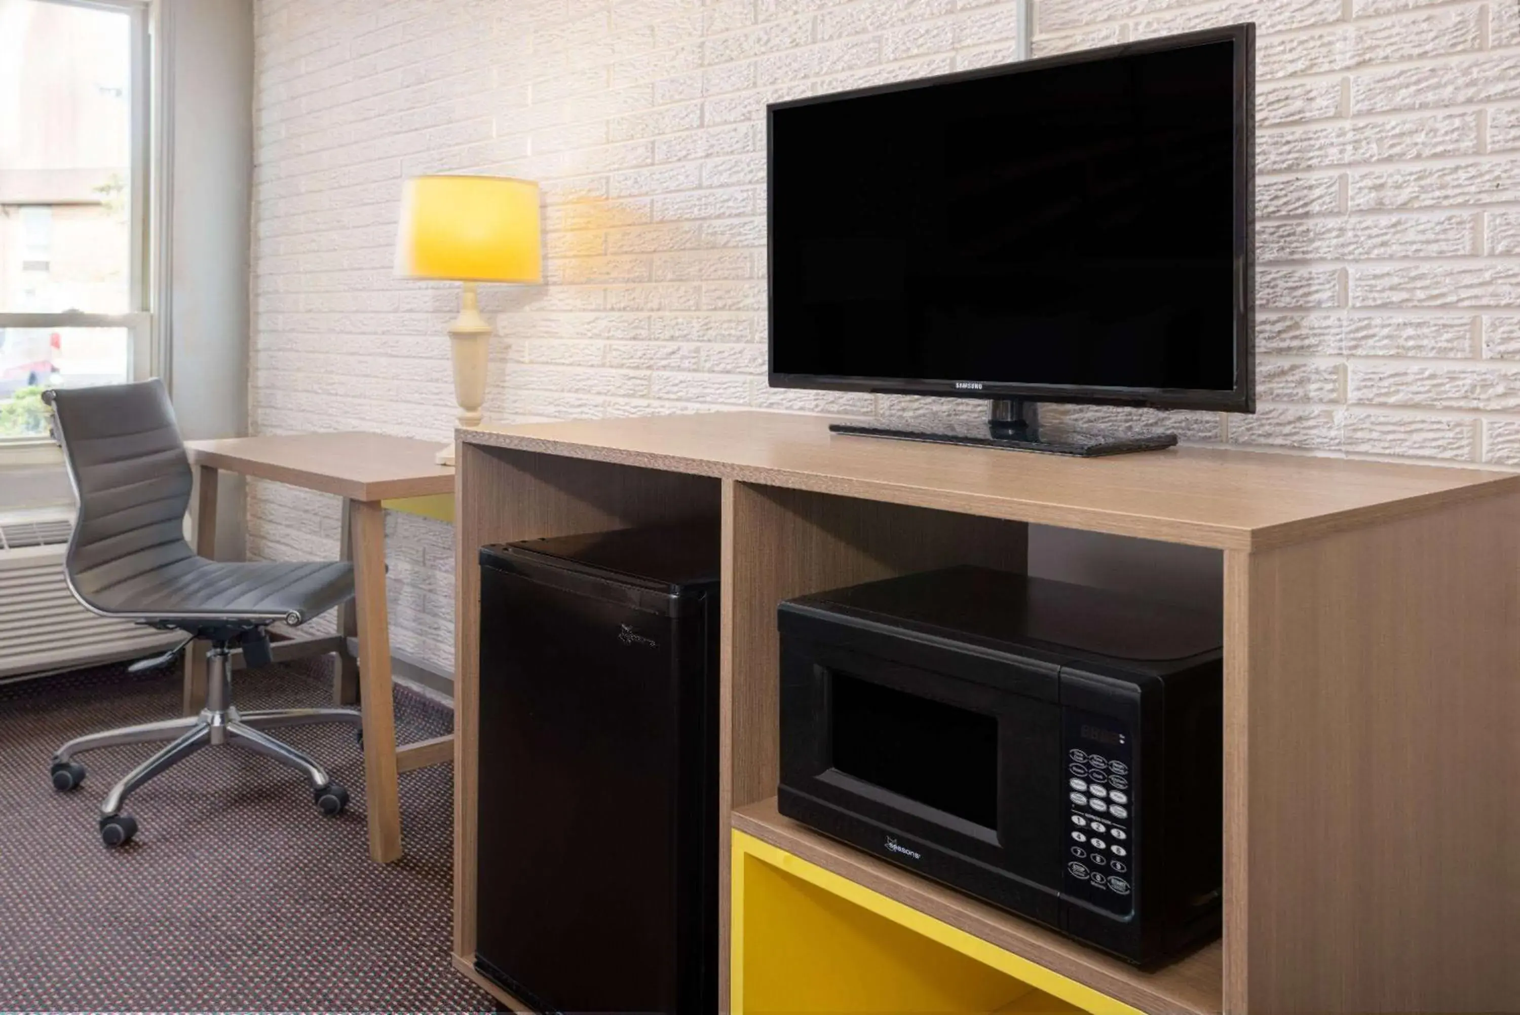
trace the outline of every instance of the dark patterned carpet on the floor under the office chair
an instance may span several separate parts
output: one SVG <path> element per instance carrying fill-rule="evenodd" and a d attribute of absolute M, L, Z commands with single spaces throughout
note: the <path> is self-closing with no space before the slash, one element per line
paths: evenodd
<path fill-rule="evenodd" d="M 327 674 L 234 677 L 245 709 L 322 705 Z M 400 740 L 450 729 L 447 709 L 397 689 Z M 363 761 L 340 727 L 278 730 L 353 794 L 324 817 L 295 772 L 207 747 L 128 800 L 137 838 L 109 851 L 96 808 L 155 747 L 81 755 L 55 793 L 47 765 L 71 737 L 178 712 L 178 673 L 91 670 L 0 686 L 0 1012 L 489 1012 L 448 963 L 451 770 L 401 776 L 406 857 L 365 840 Z"/>

